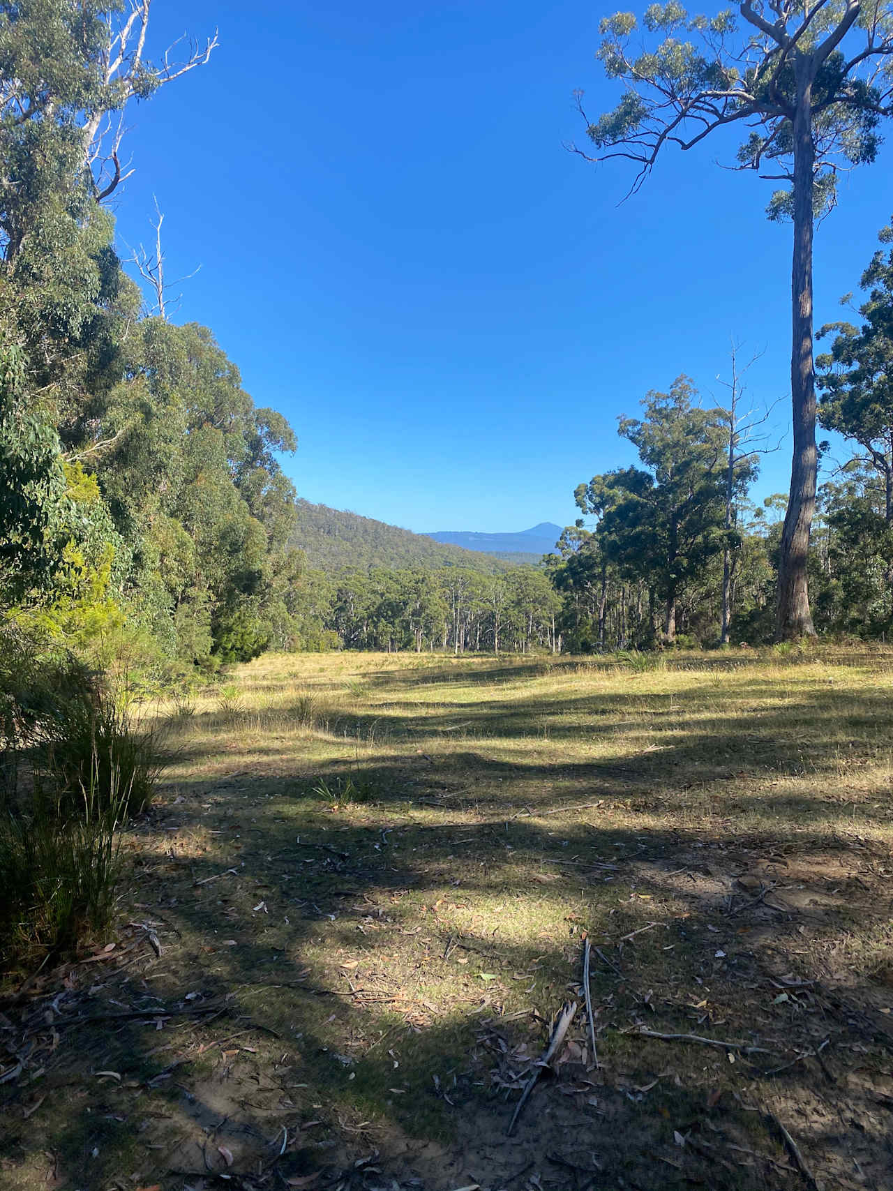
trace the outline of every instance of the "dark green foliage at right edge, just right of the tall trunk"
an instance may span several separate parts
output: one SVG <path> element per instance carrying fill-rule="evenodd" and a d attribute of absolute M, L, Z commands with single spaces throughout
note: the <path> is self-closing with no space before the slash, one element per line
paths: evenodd
<path fill-rule="evenodd" d="M 882 227 L 881 244 L 893 243 L 893 227 Z M 862 325 L 831 323 L 819 336 L 835 332 L 831 350 L 816 360 L 819 422 L 861 448 L 861 460 L 880 480 L 883 519 L 893 525 L 893 250 L 872 257 L 860 288 Z M 847 299 L 849 300 L 849 295 Z"/>

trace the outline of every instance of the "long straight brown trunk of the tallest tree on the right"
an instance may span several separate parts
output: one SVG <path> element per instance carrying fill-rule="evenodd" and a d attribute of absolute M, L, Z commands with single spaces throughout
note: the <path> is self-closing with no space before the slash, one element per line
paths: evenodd
<path fill-rule="evenodd" d="M 812 238 L 813 172 L 812 74 L 810 57 L 795 58 L 797 110 L 794 112 L 794 258 L 792 268 L 791 398 L 794 454 L 791 467 L 785 526 L 779 555 L 775 637 L 779 641 L 813 637 L 810 615 L 807 559 L 810 530 L 816 511 L 816 373 L 812 361 Z"/>

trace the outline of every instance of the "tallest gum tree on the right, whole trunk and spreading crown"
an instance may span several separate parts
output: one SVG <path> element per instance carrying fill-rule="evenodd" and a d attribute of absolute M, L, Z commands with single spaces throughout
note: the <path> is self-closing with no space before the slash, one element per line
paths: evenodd
<path fill-rule="evenodd" d="M 776 635 L 814 631 L 807 591 L 816 507 L 812 356 L 813 227 L 833 206 L 842 169 L 872 162 L 891 112 L 893 19 L 882 0 L 744 0 L 737 13 L 691 15 L 676 0 L 639 21 L 601 21 L 597 57 L 623 85 L 613 111 L 587 119 L 591 161 L 632 162 L 635 193 L 668 145 L 688 150 L 739 126 L 737 168 L 783 183 L 773 219 L 793 222 L 791 394 L 793 461 L 779 551 Z M 579 151 L 579 150 L 577 150 Z"/>

